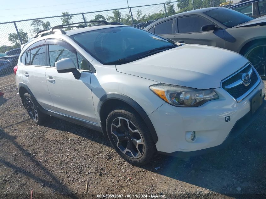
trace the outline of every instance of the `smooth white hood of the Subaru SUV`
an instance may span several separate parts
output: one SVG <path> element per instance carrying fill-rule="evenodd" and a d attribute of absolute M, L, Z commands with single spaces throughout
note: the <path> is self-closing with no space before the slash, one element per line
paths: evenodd
<path fill-rule="evenodd" d="M 218 88 L 248 60 L 238 53 L 217 47 L 184 44 L 127 64 L 118 72 L 166 84 L 199 89 Z"/>

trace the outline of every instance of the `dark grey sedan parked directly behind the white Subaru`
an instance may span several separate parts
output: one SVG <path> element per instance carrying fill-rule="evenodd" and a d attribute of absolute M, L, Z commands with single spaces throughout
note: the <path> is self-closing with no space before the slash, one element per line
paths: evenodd
<path fill-rule="evenodd" d="M 266 77 L 266 16 L 253 19 L 228 8 L 202 8 L 158 20 L 144 30 L 181 43 L 235 51 Z"/>

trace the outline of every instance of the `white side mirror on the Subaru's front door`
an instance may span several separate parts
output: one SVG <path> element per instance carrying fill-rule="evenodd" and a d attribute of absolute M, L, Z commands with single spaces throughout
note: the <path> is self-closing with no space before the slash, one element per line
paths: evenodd
<path fill-rule="evenodd" d="M 72 72 L 75 79 L 77 79 L 77 80 L 79 80 L 79 78 L 81 76 L 80 72 L 78 72 L 78 70 L 76 69 L 74 62 L 70 58 L 61 59 L 61 60 L 55 62 L 55 68 L 56 68 L 58 73 L 70 73 L 70 72 Z"/>

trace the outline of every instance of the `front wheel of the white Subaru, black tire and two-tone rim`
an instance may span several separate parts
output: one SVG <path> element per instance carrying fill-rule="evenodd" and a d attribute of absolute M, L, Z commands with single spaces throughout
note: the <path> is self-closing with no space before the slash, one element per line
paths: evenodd
<path fill-rule="evenodd" d="M 116 152 L 131 164 L 147 164 L 157 153 L 149 129 L 133 108 L 121 106 L 111 111 L 106 131 Z"/>

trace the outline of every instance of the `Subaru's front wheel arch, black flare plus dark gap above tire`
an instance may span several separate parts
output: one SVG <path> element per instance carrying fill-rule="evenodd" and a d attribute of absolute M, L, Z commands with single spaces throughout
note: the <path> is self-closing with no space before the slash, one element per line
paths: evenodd
<path fill-rule="evenodd" d="M 101 124 L 103 134 L 105 136 L 107 134 L 105 120 L 108 114 L 110 113 L 112 109 L 122 104 L 133 108 L 140 115 L 140 117 L 144 120 L 145 124 L 150 130 L 154 143 L 156 143 L 158 141 L 158 136 L 156 134 L 154 126 L 152 122 L 150 121 L 150 118 L 148 117 L 147 113 L 136 101 L 134 101 L 132 98 L 126 95 L 123 95 L 121 93 L 106 93 L 99 100 L 97 112 L 99 113 L 99 116 L 100 116 L 100 124 Z"/>

